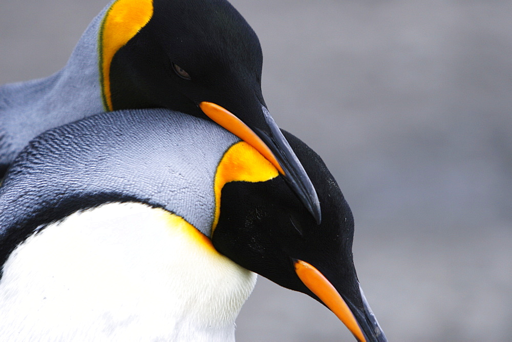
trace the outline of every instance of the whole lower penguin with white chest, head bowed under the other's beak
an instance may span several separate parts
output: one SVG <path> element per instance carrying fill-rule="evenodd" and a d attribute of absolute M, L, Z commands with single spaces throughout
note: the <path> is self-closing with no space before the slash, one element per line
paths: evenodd
<path fill-rule="evenodd" d="M 385 341 L 357 280 L 350 208 L 283 133 L 320 225 L 267 159 L 197 117 L 101 113 L 32 140 L 0 187 L 0 339 L 232 340 L 259 273 L 358 340 Z"/>

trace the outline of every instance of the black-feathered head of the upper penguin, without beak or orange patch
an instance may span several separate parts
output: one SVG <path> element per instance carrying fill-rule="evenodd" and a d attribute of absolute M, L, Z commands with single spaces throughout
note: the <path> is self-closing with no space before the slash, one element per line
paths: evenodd
<path fill-rule="evenodd" d="M 112 59 L 112 105 L 204 116 L 198 105 L 209 101 L 247 122 L 264 105 L 261 72 L 258 37 L 227 1 L 154 0 L 147 24 Z"/>

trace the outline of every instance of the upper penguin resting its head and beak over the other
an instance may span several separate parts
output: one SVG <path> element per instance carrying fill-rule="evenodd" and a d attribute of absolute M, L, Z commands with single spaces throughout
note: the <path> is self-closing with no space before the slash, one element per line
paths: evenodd
<path fill-rule="evenodd" d="M 258 37 L 226 0 L 113 0 L 65 68 L 0 88 L 0 177 L 53 127 L 104 111 L 168 108 L 251 144 L 319 223 L 313 185 L 266 108 L 262 58 Z"/>

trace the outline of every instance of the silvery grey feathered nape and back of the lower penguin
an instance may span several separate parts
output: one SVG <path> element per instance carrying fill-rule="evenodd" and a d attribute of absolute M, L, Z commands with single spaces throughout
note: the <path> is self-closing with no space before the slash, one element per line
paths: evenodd
<path fill-rule="evenodd" d="M 0 245 L 109 201 L 163 207 L 210 236 L 217 165 L 238 141 L 165 109 L 101 113 L 50 130 L 19 154 L 0 188 Z"/>

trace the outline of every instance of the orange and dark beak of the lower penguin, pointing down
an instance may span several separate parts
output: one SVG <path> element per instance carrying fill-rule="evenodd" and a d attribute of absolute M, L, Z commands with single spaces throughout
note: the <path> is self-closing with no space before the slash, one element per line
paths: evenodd
<path fill-rule="evenodd" d="M 327 306 L 360 342 L 386 342 L 386 335 L 380 328 L 370 309 L 365 294 L 359 286 L 364 312 L 344 299 L 327 278 L 312 265 L 294 261 L 299 279 Z"/>

